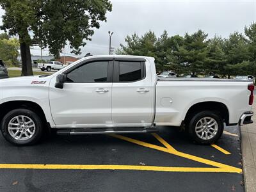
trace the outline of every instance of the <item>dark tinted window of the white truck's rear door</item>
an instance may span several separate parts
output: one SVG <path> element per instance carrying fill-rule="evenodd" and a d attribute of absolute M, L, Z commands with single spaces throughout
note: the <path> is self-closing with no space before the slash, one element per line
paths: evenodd
<path fill-rule="evenodd" d="M 144 63 L 140 61 L 119 62 L 119 82 L 138 81 L 145 76 Z"/>

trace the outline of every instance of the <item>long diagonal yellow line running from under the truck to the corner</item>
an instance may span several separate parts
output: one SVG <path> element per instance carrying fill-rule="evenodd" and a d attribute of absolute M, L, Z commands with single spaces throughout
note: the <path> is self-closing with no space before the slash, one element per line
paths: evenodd
<path fill-rule="evenodd" d="M 173 155 L 179 156 L 179 157 L 184 157 L 186 159 L 197 161 L 199 163 L 209 164 L 211 166 L 215 166 L 215 167 L 218 167 L 218 168 L 223 168 L 223 170 L 226 170 L 226 171 L 228 170 L 228 172 L 233 172 L 233 173 L 241 173 L 242 172 L 242 170 L 240 168 L 236 168 L 234 166 L 229 166 L 227 164 L 218 163 L 216 161 L 211 161 L 209 159 L 204 159 L 202 157 L 197 157 L 197 156 L 193 156 L 193 155 L 186 154 L 186 153 L 183 153 L 183 152 L 179 152 L 177 150 L 173 150 L 172 148 L 170 149 L 170 148 L 160 147 L 160 146 L 157 146 L 157 145 L 146 143 L 146 142 L 140 141 L 140 140 L 134 140 L 132 138 L 128 138 L 126 136 L 122 136 L 122 135 L 118 135 L 118 134 L 109 134 L 109 135 L 113 136 L 114 138 L 118 138 L 120 140 L 125 140 L 125 141 L 129 141 L 131 143 L 135 143 L 137 145 L 141 145 L 143 147 L 154 148 L 156 150 L 161 150 L 163 152 L 166 152 L 166 153 L 169 153 L 169 154 L 173 154 Z M 158 136 L 157 138 L 161 138 L 161 137 Z M 163 140 L 163 138 L 161 138 L 161 140 Z M 200 168 L 198 168 L 198 169 L 200 169 Z"/>

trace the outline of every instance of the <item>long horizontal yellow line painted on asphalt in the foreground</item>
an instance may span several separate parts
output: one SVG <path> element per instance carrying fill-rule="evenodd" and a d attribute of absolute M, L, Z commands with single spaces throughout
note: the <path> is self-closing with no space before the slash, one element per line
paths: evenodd
<path fill-rule="evenodd" d="M 36 170 L 140 170 L 155 172 L 229 172 L 239 173 L 228 168 L 193 168 L 172 166 L 139 166 L 119 164 L 0 164 L 0 169 Z"/>

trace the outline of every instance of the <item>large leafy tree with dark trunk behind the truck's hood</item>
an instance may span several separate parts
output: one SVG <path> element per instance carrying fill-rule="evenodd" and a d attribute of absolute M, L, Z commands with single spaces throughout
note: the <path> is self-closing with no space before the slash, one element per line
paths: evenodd
<path fill-rule="evenodd" d="M 69 42 L 72 52 L 79 54 L 84 40 L 91 40 L 93 29 L 106 21 L 112 8 L 109 0 L 0 0 L 0 5 L 5 10 L 1 29 L 19 35 L 22 76 L 33 74 L 29 45 L 36 42 L 59 56 Z"/>

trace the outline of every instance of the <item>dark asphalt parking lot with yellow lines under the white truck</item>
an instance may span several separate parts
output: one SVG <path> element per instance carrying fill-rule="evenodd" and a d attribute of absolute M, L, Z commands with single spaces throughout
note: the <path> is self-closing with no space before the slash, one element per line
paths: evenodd
<path fill-rule="evenodd" d="M 212 146 L 159 130 L 54 136 L 31 147 L 0 136 L 0 191 L 244 191 L 239 127 Z"/>

